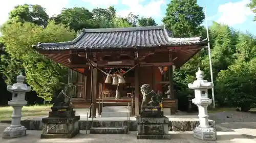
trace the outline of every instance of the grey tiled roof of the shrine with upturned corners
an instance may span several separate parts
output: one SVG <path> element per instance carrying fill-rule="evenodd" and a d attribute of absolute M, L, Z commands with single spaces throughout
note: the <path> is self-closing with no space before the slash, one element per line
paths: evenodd
<path fill-rule="evenodd" d="M 38 43 L 34 47 L 45 50 L 73 48 L 118 48 L 193 45 L 203 42 L 201 37 L 174 38 L 165 26 L 84 29 L 73 41 Z"/>

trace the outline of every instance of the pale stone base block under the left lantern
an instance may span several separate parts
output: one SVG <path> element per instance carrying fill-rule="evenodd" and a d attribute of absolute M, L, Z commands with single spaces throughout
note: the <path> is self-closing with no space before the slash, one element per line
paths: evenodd
<path fill-rule="evenodd" d="M 26 135 L 26 128 L 24 126 L 20 127 L 7 127 L 3 131 L 2 138 L 15 138 L 15 137 L 22 137 Z"/>

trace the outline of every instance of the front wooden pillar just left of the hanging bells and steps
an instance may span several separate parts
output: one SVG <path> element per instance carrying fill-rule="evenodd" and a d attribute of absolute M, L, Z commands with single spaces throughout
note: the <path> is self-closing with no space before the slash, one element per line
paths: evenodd
<path fill-rule="evenodd" d="M 96 96 L 97 96 L 97 69 L 93 68 L 93 76 L 92 76 L 92 80 L 93 80 L 93 95 L 92 95 L 92 103 L 93 103 L 93 112 L 92 112 L 92 118 L 96 118 Z"/>

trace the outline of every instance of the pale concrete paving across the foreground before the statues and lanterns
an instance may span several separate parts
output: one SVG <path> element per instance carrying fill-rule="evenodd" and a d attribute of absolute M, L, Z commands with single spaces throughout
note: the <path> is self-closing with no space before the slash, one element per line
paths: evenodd
<path fill-rule="evenodd" d="M 72 139 L 40 139 L 41 131 L 27 131 L 27 136 L 12 139 L 3 139 L 2 130 L 0 130 L 0 142 L 10 143 L 155 143 L 156 140 L 151 139 L 136 139 L 136 131 L 132 131 L 129 134 L 86 134 L 85 131 L 81 131 L 80 134 Z M 171 139 L 157 140 L 159 143 L 255 143 L 255 139 L 242 136 L 238 132 L 217 132 L 218 139 L 216 141 L 204 141 L 193 137 L 193 132 L 169 132 Z"/>

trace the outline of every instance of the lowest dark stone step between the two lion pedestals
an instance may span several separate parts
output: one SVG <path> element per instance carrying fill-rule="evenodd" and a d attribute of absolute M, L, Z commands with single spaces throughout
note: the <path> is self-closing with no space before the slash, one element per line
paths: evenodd
<path fill-rule="evenodd" d="M 127 126 L 123 127 L 92 127 L 90 134 L 127 134 Z"/>

